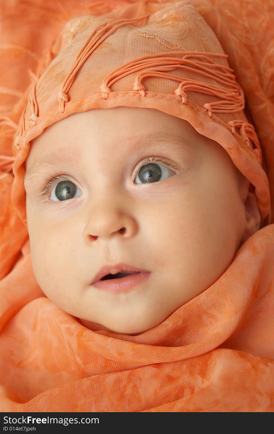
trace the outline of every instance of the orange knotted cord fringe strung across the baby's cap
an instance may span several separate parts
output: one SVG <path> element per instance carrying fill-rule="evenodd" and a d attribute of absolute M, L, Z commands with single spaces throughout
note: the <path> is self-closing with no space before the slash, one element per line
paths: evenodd
<path fill-rule="evenodd" d="M 72 65 L 70 71 L 62 88 L 58 92 L 58 102 L 59 102 L 59 111 L 64 113 L 65 104 L 69 102 L 68 91 L 73 84 L 74 77 L 76 73 L 79 71 L 81 66 L 83 66 L 84 62 L 90 56 L 90 54 L 102 43 L 108 36 L 114 33 L 119 27 L 124 26 L 125 24 L 139 24 L 142 20 L 146 20 L 149 15 L 141 16 L 139 18 L 133 19 L 120 19 L 120 20 L 110 20 L 103 25 L 100 24 L 93 30 L 84 46 L 81 48 L 78 53 L 74 64 Z M 97 33 L 98 32 L 98 33 Z M 100 40 L 99 40 L 100 39 Z M 49 53 L 45 53 L 44 62 L 45 65 L 51 61 L 51 56 L 48 56 Z M 169 57 L 169 56 L 180 56 L 182 57 Z M 48 57 L 47 57 L 48 56 Z M 174 91 L 174 95 L 179 95 L 182 98 L 182 103 L 187 104 L 187 91 L 195 91 L 204 93 L 207 95 L 215 95 L 221 100 L 208 102 L 203 105 L 203 109 L 206 110 L 206 113 L 209 117 L 212 117 L 212 113 L 234 113 L 238 112 L 245 107 L 245 99 L 242 88 L 236 82 L 236 77 L 232 73 L 233 69 L 220 65 L 216 63 L 210 57 L 215 58 L 227 58 L 226 54 L 219 53 L 205 53 L 205 52 L 170 52 L 170 53 L 158 53 L 155 55 L 147 55 L 142 56 L 137 59 L 133 59 L 125 63 L 122 66 L 119 66 L 114 71 L 110 72 L 108 76 L 103 79 L 103 83 L 100 85 L 100 91 L 102 92 L 102 98 L 108 99 L 109 94 L 111 92 L 110 86 L 113 85 L 116 81 L 125 77 L 129 74 L 135 74 L 135 81 L 132 86 L 132 90 L 137 90 L 142 97 L 145 97 L 145 87 L 142 85 L 142 79 L 145 77 L 158 77 L 159 79 L 168 79 L 179 82 L 177 89 Z M 43 68 L 45 69 L 45 65 Z M 42 74 L 41 68 L 40 74 Z M 147 69 L 153 68 L 153 69 Z M 208 77 L 210 79 L 219 82 L 219 85 L 211 85 L 209 83 L 205 83 L 199 80 L 193 79 L 184 79 L 179 76 L 174 76 L 168 74 L 167 72 L 173 71 L 174 69 L 181 68 L 189 71 L 193 71 L 195 73 L 200 74 L 201 76 Z M 144 71 L 145 69 L 145 71 Z M 138 72 L 142 70 L 141 72 Z M 38 79 L 37 79 L 38 80 Z M 29 118 L 30 128 L 32 126 L 37 125 L 38 114 L 38 104 L 36 101 L 36 83 L 32 88 L 32 91 L 29 95 L 29 105 L 32 108 L 32 115 Z M 224 87 L 226 86 L 226 87 Z M 15 138 L 15 147 L 17 151 L 20 151 L 19 141 L 20 138 L 25 131 L 25 122 L 24 115 L 26 109 L 23 111 L 21 116 L 21 128 L 20 134 Z M 240 135 L 244 139 L 246 146 L 248 149 L 254 152 L 256 155 L 258 162 L 262 164 L 262 155 L 260 143 L 258 140 L 258 136 L 256 135 L 255 129 L 253 125 L 243 122 L 243 121 L 229 121 L 227 122 L 227 127 L 229 128 L 232 134 L 235 134 L 235 127 L 240 128 Z M 255 144 L 255 149 L 251 146 L 251 141 Z"/>

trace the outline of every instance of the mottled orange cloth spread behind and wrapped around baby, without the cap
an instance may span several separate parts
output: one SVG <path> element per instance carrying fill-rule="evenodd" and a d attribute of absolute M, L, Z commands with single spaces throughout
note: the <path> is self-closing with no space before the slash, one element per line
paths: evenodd
<path fill-rule="evenodd" d="M 78 16 L 111 16 L 112 9 L 134 1 L 94 2 L 90 9 L 79 7 L 76 0 L 63 2 L 64 8 L 60 2 L 57 6 L 48 2 L 48 9 L 42 0 L 35 3 L 35 8 L 20 3 L 1 6 L 7 19 L 0 55 L 10 74 L 0 76 L 0 196 L 4 204 L 0 215 L 0 410 L 273 411 L 274 225 L 269 223 L 274 222 L 274 213 L 271 220 L 268 184 L 261 168 L 255 167 L 258 153 L 248 151 L 251 163 L 246 170 L 257 183 L 261 214 L 268 216 L 268 225 L 245 241 L 212 286 L 156 327 L 135 336 L 93 332 L 55 306 L 39 288 L 27 229 L 11 203 L 13 186 L 16 205 L 23 210 L 22 191 L 17 194 L 19 183 L 13 182 L 14 132 L 21 133 L 19 119 L 33 81 L 51 61 L 52 39 L 64 24 Z M 148 2 L 146 12 L 157 10 L 158 3 Z M 260 5 L 258 26 L 258 2 L 248 2 L 248 7 L 240 0 L 237 7 L 228 0 L 217 6 L 213 0 L 190 3 L 230 56 L 261 141 L 273 198 L 270 53 L 274 9 Z M 16 26 L 22 15 L 31 22 L 23 33 Z M 48 20 L 48 15 L 55 21 Z M 42 36 L 37 38 L 37 33 Z M 181 97 L 184 94 L 178 94 Z M 202 118 L 203 112 L 199 113 Z M 240 144 L 240 136 L 237 140 Z M 239 157 L 233 158 L 240 164 Z M 251 171 L 253 161 L 258 176 Z"/>

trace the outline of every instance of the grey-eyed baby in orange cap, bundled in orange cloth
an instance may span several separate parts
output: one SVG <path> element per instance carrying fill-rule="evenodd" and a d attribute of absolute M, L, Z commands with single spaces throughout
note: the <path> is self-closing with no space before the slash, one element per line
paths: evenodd
<path fill-rule="evenodd" d="M 42 56 L 13 142 L 30 252 L 0 282 L 5 411 L 274 410 L 270 188 L 193 3 L 71 19 Z"/>

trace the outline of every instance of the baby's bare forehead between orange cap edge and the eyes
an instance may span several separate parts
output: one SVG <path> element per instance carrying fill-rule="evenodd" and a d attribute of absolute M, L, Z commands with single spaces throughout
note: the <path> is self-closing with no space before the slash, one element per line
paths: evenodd
<path fill-rule="evenodd" d="M 190 122 L 160 110 L 123 106 L 92 109 L 55 122 L 31 141 L 25 178 L 37 162 L 41 167 L 63 158 L 86 166 L 87 161 L 91 164 L 98 158 L 115 161 L 116 157 L 128 158 L 132 154 L 176 160 L 179 153 L 185 161 L 199 154 L 207 160 L 230 160 L 221 145 L 198 133 Z"/>

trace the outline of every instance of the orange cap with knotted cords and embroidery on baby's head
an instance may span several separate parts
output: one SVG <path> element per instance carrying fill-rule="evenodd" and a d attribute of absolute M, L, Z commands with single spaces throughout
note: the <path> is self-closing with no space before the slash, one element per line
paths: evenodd
<path fill-rule="evenodd" d="M 125 105 L 185 119 L 219 143 L 255 186 L 261 221 L 270 223 L 260 142 L 216 35 L 189 1 L 154 4 L 153 13 L 143 3 L 70 20 L 52 46 L 57 55 L 32 86 L 13 146 L 12 202 L 20 218 L 26 224 L 31 140 L 75 112 Z"/>

